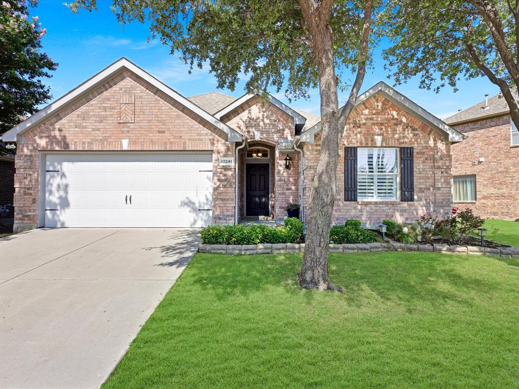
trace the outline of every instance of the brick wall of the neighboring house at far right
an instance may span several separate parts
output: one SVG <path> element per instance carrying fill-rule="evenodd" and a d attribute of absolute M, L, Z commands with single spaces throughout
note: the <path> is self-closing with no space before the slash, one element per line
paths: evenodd
<path fill-rule="evenodd" d="M 469 136 L 452 146 L 453 175 L 476 175 L 476 201 L 455 206 L 482 217 L 519 218 L 519 146 L 511 146 L 510 126 L 510 115 L 453 126 Z"/>

